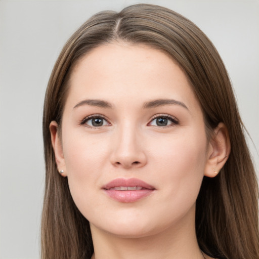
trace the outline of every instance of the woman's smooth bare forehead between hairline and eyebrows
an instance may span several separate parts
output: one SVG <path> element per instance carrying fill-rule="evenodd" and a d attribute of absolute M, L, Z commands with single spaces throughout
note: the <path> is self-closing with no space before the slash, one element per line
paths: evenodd
<path fill-rule="evenodd" d="M 71 73 L 68 101 L 114 97 L 196 100 L 185 73 L 164 52 L 117 43 L 99 46 L 80 59 Z"/>

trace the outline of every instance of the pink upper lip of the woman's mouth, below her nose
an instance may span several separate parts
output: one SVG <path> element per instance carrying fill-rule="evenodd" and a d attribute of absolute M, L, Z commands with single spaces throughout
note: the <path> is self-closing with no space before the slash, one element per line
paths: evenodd
<path fill-rule="evenodd" d="M 145 189 L 155 189 L 152 185 L 147 184 L 146 182 L 137 179 L 137 178 L 130 178 L 130 179 L 125 179 L 125 178 L 116 178 L 109 182 L 108 184 L 103 186 L 103 189 L 109 190 L 114 187 L 119 187 L 119 186 L 125 186 L 125 187 L 142 187 Z"/>

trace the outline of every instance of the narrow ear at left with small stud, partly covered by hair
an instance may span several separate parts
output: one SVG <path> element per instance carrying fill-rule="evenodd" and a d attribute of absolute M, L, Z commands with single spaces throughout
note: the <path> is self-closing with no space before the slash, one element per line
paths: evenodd
<path fill-rule="evenodd" d="M 67 170 L 66 170 L 66 163 L 63 155 L 62 140 L 61 140 L 61 136 L 59 136 L 58 134 L 58 123 L 54 120 L 50 123 L 50 132 L 51 132 L 52 147 L 55 153 L 55 159 L 56 159 L 58 171 L 60 175 L 62 175 L 63 177 L 66 177 Z"/>

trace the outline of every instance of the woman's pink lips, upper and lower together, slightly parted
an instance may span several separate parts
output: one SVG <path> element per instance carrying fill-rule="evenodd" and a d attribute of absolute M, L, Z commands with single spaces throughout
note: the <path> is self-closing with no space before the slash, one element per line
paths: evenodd
<path fill-rule="evenodd" d="M 135 202 L 153 193 L 155 188 L 137 178 L 117 178 L 102 188 L 112 199 L 119 202 Z"/>

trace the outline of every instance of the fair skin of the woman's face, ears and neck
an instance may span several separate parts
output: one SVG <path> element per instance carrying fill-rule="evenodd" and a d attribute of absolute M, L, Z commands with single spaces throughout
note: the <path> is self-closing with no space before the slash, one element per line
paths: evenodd
<path fill-rule="evenodd" d="M 178 103 L 144 108 L 157 99 Z M 94 126 L 91 115 L 103 117 L 103 125 Z M 156 118 L 165 116 L 167 125 L 158 125 Z M 174 60 L 143 45 L 92 50 L 72 72 L 62 138 L 55 121 L 50 130 L 58 169 L 90 222 L 93 258 L 204 258 L 195 201 L 203 176 L 216 176 L 230 145 L 222 123 L 207 140 L 200 105 Z M 116 178 L 138 178 L 155 190 L 118 202 L 102 189 Z"/>

